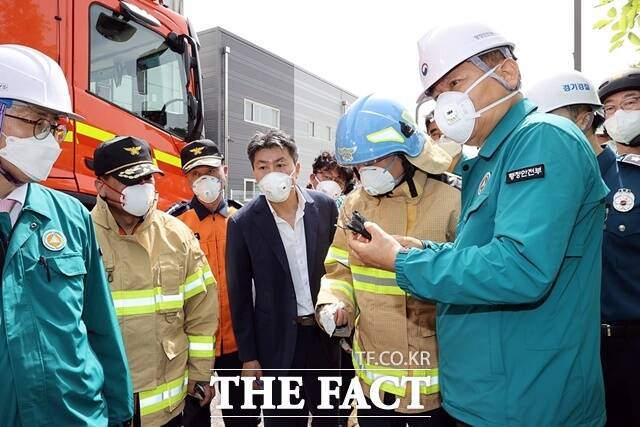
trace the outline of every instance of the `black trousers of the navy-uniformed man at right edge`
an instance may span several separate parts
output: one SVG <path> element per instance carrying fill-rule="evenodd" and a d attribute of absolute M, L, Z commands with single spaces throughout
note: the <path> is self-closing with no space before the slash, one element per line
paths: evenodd
<path fill-rule="evenodd" d="M 600 347 L 607 426 L 640 426 L 640 336 L 603 334 Z"/>

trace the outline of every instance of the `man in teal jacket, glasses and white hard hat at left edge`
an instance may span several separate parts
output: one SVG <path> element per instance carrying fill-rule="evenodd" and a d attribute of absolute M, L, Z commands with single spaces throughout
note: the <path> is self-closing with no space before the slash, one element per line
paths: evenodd
<path fill-rule="evenodd" d="M 89 212 L 46 179 L 66 135 L 53 60 L 0 45 L 0 424 L 107 426 L 132 386 Z"/>

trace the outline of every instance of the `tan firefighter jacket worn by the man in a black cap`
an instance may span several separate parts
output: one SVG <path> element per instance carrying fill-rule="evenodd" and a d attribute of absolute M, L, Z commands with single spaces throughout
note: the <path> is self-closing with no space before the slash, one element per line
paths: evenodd
<path fill-rule="evenodd" d="M 91 215 L 142 425 L 163 425 L 182 411 L 188 380 L 210 381 L 214 276 L 191 230 L 155 207 L 131 235 L 102 198 Z"/>

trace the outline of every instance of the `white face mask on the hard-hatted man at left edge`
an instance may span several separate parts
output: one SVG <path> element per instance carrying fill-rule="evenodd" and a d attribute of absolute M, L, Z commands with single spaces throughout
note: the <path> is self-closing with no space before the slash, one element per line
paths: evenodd
<path fill-rule="evenodd" d="M 4 135 L 4 134 L 3 134 Z M 34 182 L 47 179 L 62 149 L 52 134 L 45 139 L 18 138 L 4 135 L 6 147 L 0 157 L 7 160 Z"/>

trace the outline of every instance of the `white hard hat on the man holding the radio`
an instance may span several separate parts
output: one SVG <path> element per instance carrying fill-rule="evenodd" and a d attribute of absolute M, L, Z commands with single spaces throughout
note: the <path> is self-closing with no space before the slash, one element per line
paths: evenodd
<path fill-rule="evenodd" d="M 430 98 L 428 90 L 449 71 L 473 56 L 499 47 L 513 49 L 515 45 L 485 24 L 462 23 L 429 31 L 418 41 L 424 88 L 418 103 Z"/>

